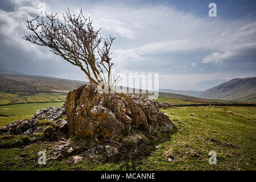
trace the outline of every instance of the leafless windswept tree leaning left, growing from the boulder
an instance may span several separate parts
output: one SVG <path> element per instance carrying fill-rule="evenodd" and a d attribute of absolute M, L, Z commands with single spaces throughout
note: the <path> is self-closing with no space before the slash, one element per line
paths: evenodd
<path fill-rule="evenodd" d="M 47 14 L 27 20 L 27 29 L 33 34 L 24 36 L 39 46 L 46 46 L 50 51 L 63 57 L 69 63 L 80 67 L 91 84 L 107 89 L 109 92 L 117 78 L 112 77 L 110 48 L 114 41 L 111 35 L 102 39 L 100 30 L 94 30 L 92 20 L 85 18 L 82 9 L 79 15 L 63 14 L 63 21 L 57 14 Z"/>

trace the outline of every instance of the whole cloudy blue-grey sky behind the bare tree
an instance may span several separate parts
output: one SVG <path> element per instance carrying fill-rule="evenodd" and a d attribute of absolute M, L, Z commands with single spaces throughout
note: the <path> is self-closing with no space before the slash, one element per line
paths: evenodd
<path fill-rule="evenodd" d="M 209 3 L 217 16 L 210 17 Z M 44 12 L 82 11 L 115 36 L 115 73 L 158 73 L 160 89 L 205 90 L 232 78 L 256 76 L 256 1 L 0 1 L 0 68 L 86 81 L 84 73 L 36 46 L 26 19 Z"/>

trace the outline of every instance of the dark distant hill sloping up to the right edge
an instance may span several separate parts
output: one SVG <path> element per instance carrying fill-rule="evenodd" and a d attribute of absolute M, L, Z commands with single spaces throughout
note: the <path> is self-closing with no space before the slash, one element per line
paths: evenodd
<path fill-rule="evenodd" d="M 235 78 L 205 90 L 198 97 L 256 102 L 256 77 Z"/>

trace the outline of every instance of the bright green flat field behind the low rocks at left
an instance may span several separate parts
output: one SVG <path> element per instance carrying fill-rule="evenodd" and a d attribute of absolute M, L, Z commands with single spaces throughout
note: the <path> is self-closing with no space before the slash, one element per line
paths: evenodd
<path fill-rule="evenodd" d="M 7 125 L 10 122 L 18 121 L 21 119 L 30 119 L 36 111 L 52 106 L 61 107 L 64 102 L 51 102 L 51 103 L 32 103 L 32 104 L 15 104 L 0 106 L 0 114 L 10 115 L 10 117 L 0 116 L 0 127 Z"/>

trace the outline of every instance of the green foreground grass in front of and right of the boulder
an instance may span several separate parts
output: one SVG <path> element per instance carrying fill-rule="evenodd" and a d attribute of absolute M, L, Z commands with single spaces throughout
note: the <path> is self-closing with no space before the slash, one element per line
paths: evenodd
<path fill-rule="evenodd" d="M 150 140 L 147 156 L 119 163 L 76 164 L 62 161 L 39 166 L 38 151 L 49 149 L 54 143 L 36 143 L 25 147 L 0 149 L 0 169 L 19 170 L 255 170 L 256 109 L 255 107 L 172 107 L 163 110 L 175 124 L 166 140 Z M 190 115 L 191 113 L 195 116 Z M 160 148 L 155 149 L 158 145 Z M 217 165 L 208 163 L 209 151 L 217 152 Z M 165 162 L 164 154 L 174 156 L 174 162 Z M 127 154 L 129 155 L 129 154 Z"/>

